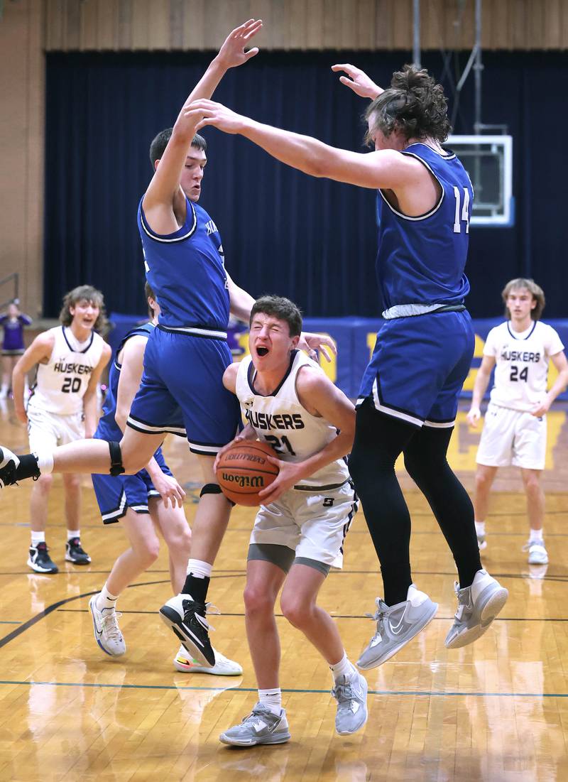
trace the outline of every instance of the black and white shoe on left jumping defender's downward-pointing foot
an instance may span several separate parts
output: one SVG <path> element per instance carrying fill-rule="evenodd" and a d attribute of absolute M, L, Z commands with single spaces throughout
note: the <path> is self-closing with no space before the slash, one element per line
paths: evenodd
<path fill-rule="evenodd" d="M 189 594 L 177 594 L 159 609 L 159 615 L 189 654 L 202 665 L 215 665 L 206 613 L 207 607 L 197 603 Z"/>

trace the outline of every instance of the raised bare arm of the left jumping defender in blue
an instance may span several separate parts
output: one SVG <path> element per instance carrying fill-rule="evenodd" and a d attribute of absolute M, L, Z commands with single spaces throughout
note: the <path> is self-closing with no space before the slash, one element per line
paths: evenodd
<path fill-rule="evenodd" d="M 196 124 L 193 118 L 186 116 L 186 109 L 195 100 L 210 98 L 227 70 L 246 63 L 248 59 L 258 54 L 258 48 L 255 47 L 246 52 L 245 47 L 261 27 L 263 27 L 262 21 L 254 19 L 249 19 L 240 27 L 236 27 L 227 36 L 219 54 L 213 59 L 201 80 L 191 91 L 181 108 L 176 124 L 173 126 L 170 142 L 166 146 L 159 167 L 155 170 L 154 177 L 144 196 L 144 210 L 147 217 L 148 212 L 156 205 L 167 206 L 171 210 L 173 199 L 180 192 L 181 171 L 188 156 L 191 139 L 195 135 Z M 148 217 L 148 219 L 151 218 Z"/>

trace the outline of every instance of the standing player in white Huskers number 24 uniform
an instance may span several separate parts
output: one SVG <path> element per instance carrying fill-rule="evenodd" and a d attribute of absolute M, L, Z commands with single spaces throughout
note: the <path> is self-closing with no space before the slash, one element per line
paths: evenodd
<path fill-rule="evenodd" d="M 495 384 L 477 450 L 474 502 L 477 541 L 480 549 L 487 546 L 485 518 L 498 468 L 519 467 L 530 525 L 525 547 L 528 561 L 530 565 L 546 565 L 548 552 L 542 533 L 545 495 L 540 482 L 546 457 L 546 413 L 566 388 L 568 362 L 558 333 L 539 320 L 545 307 L 545 294 L 533 280 L 510 280 L 502 298 L 508 319 L 488 334 L 467 414 L 470 424 L 477 426 L 480 402 L 495 367 Z M 559 374 L 547 391 L 549 361 Z"/>

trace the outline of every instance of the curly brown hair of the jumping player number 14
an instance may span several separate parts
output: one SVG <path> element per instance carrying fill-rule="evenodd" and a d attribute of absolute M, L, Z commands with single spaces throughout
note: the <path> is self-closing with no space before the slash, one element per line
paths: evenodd
<path fill-rule="evenodd" d="M 452 130 L 448 120 L 448 99 L 444 88 L 434 81 L 425 68 L 405 65 L 392 74 L 391 87 L 381 92 L 365 112 L 365 120 L 372 117 L 373 130 L 384 136 L 392 131 L 410 138 L 434 138 L 445 142 Z M 366 134 L 367 144 L 371 142 Z"/>

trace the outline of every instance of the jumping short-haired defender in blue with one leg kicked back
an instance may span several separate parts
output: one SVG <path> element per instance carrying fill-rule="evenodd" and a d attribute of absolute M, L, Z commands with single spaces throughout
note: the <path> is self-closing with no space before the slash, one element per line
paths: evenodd
<path fill-rule="evenodd" d="M 55 450 L 17 457 L 0 449 L 0 488 L 45 472 L 134 475 L 150 461 L 167 432 L 188 437 L 198 454 L 204 486 L 195 514 L 182 594 L 160 609 L 184 647 L 201 665 L 215 665 L 205 619 L 209 576 L 230 515 L 213 462 L 234 438 L 240 412 L 236 397 L 223 387 L 231 363 L 227 347 L 229 312 L 248 322 L 254 299 L 225 271 L 219 231 L 197 206 L 206 163 L 205 140 L 196 136 L 198 120 L 188 113 L 196 99 L 210 98 L 230 68 L 245 63 L 258 48 L 245 51 L 260 30 L 248 20 L 233 30 L 189 95 L 173 128 L 154 139 L 155 170 L 138 210 L 148 282 L 162 310 L 148 339 L 141 386 L 119 442 L 84 440 Z M 314 353 L 333 341 L 302 334 L 302 349 Z M 179 500 L 180 501 L 180 500 Z"/>

